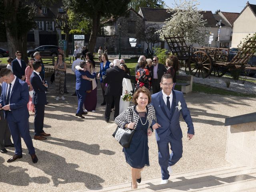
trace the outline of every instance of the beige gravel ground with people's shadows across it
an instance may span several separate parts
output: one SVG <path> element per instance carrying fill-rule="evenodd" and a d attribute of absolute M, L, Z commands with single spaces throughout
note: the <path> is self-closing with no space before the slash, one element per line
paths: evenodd
<path fill-rule="evenodd" d="M 47 95 L 44 130 L 48 140 L 33 140 L 38 163 L 33 164 L 24 142 L 23 158 L 12 163 L 13 148 L 0 154 L 0 191 L 7 192 L 69 192 L 130 182 L 130 167 L 125 162 L 120 145 L 112 138 L 116 128 L 111 114 L 110 123 L 104 121 L 102 92 L 98 86 L 98 107 L 85 119 L 74 116 L 77 99 L 74 76 L 68 74 L 66 100 L 54 99 L 54 84 Z M 50 81 L 49 81 L 50 82 Z M 195 126 L 195 137 L 186 138 L 186 123 L 181 118 L 184 134 L 183 158 L 173 167 L 174 173 L 225 166 L 227 117 L 255 112 L 256 98 L 207 95 L 185 95 Z M 34 114 L 30 116 L 31 136 Z M 142 180 L 160 177 L 155 136 L 149 138 L 150 166 L 142 172 Z"/>

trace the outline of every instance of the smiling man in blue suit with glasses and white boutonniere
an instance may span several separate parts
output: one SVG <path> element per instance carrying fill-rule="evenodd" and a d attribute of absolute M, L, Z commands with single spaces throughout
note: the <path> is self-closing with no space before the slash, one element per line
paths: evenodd
<path fill-rule="evenodd" d="M 180 128 L 180 113 L 188 125 L 188 139 L 194 136 L 194 126 L 190 111 L 180 91 L 172 90 L 173 80 L 170 74 L 162 76 L 160 87 L 162 91 L 152 95 L 151 104 L 156 111 L 157 123 L 152 122 L 156 129 L 158 145 L 158 162 L 161 167 L 162 181 L 166 184 L 172 173 L 174 164 L 182 157 L 182 130 Z M 169 143 L 172 153 L 169 152 Z"/>

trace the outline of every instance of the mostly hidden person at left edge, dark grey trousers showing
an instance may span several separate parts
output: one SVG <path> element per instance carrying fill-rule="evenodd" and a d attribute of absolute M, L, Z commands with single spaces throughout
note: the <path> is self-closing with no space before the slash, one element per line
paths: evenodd
<path fill-rule="evenodd" d="M 1 70 L 1 68 L 0 68 Z M 0 78 L 0 95 L 2 94 L 3 80 Z M 7 153 L 5 147 L 14 147 L 11 141 L 11 133 L 7 124 L 7 120 L 4 118 L 4 110 L 0 110 L 0 152 Z"/>

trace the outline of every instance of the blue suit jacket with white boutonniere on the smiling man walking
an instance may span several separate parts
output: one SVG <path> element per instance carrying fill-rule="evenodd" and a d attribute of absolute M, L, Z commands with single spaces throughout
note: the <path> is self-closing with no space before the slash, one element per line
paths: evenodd
<path fill-rule="evenodd" d="M 188 125 L 188 133 L 194 134 L 194 126 L 192 123 L 192 118 L 190 116 L 190 111 L 188 110 L 187 104 L 184 100 L 183 93 L 180 91 L 172 90 L 172 106 L 171 110 L 168 110 L 166 104 L 163 100 L 162 90 L 156 94 L 152 95 L 151 104 L 154 106 L 156 111 L 156 118 L 158 124 L 161 125 L 156 129 L 156 140 L 164 140 L 166 136 L 169 136 L 171 133 L 174 138 L 180 140 L 182 138 L 182 130 L 180 128 L 180 113 L 184 118 L 186 124 Z M 182 109 L 179 111 L 176 106 L 180 101 Z M 152 122 L 154 125 L 155 122 Z"/>

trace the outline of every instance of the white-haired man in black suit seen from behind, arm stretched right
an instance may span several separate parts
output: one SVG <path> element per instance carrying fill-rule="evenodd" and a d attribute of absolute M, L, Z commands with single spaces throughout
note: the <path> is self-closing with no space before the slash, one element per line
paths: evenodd
<path fill-rule="evenodd" d="M 106 120 L 106 122 L 109 122 L 109 119 L 110 119 L 110 111 L 111 111 L 111 105 L 112 105 L 113 100 L 115 102 L 114 118 L 116 118 L 119 115 L 119 102 L 120 102 L 120 96 L 122 95 L 123 78 L 135 80 L 135 76 L 127 75 L 124 70 L 119 68 L 119 66 L 120 66 L 120 60 L 115 59 L 114 67 L 108 68 L 106 70 L 106 74 L 104 75 L 104 78 L 103 78 L 103 82 L 108 84 L 108 86 L 106 88 L 106 92 L 105 92 L 105 96 L 106 96 L 105 120 Z"/>

